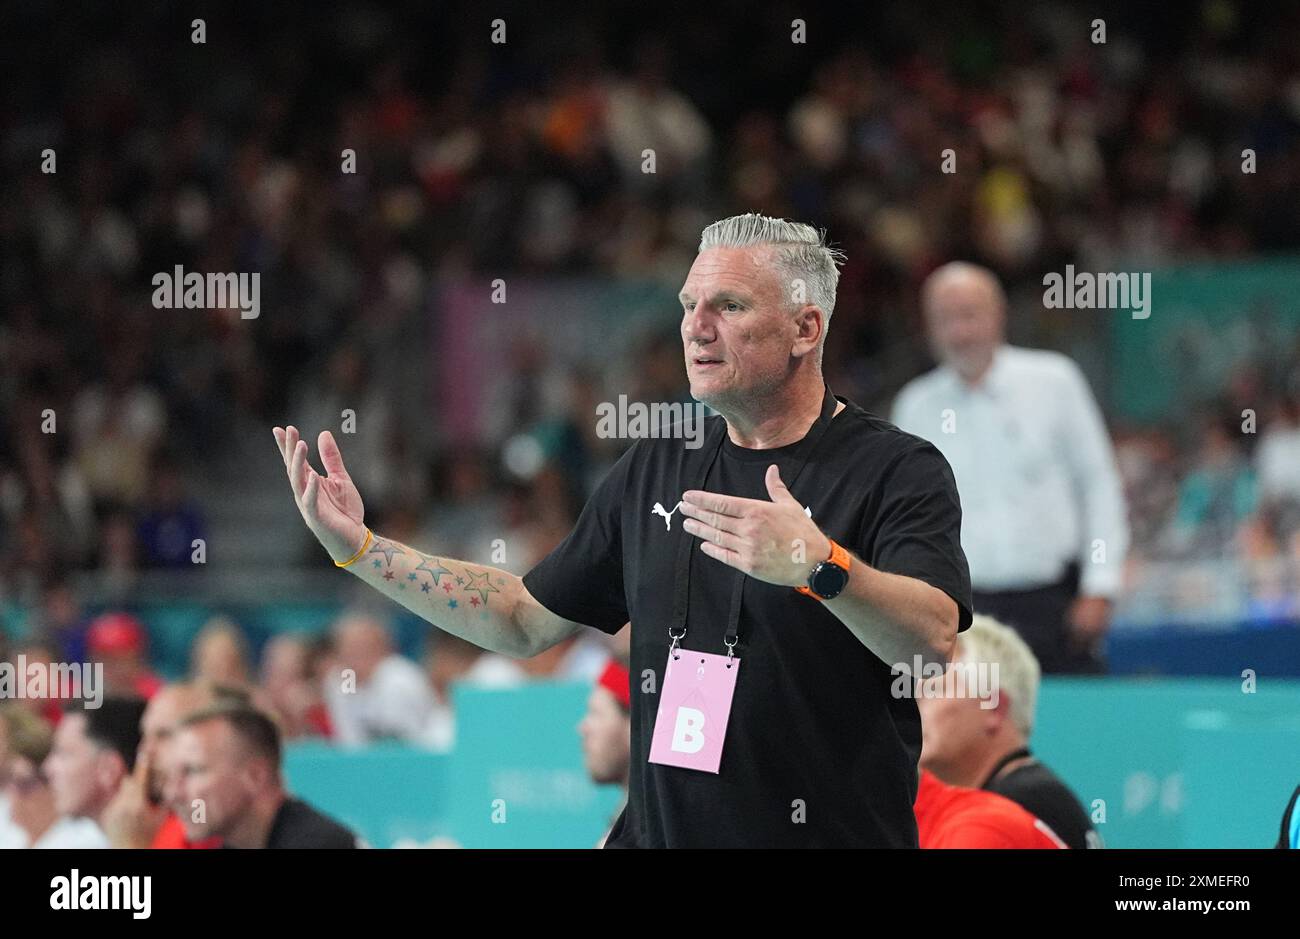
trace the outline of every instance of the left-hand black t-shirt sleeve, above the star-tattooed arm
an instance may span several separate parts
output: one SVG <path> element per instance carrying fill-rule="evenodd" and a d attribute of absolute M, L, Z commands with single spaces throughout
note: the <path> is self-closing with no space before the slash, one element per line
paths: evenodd
<path fill-rule="evenodd" d="M 627 626 L 623 502 L 638 446 L 628 449 L 582 507 L 573 531 L 528 574 L 524 587 L 556 616 L 611 636 Z"/>

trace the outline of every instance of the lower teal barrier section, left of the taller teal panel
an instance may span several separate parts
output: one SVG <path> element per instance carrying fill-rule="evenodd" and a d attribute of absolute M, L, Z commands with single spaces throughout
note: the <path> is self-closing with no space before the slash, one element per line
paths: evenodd
<path fill-rule="evenodd" d="M 447 760 L 400 744 L 344 750 L 324 743 L 285 749 L 289 791 L 374 848 L 446 838 Z"/>

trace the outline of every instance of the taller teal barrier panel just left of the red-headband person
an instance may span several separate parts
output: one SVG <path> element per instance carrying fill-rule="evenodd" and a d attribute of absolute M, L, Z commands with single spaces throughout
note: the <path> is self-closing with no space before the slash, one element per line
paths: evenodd
<path fill-rule="evenodd" d="M 456 687 L 448 828 L 467 848 L 590 848 L 620 802 L 582 765 L 577 723 L 592 685 Z"/>

